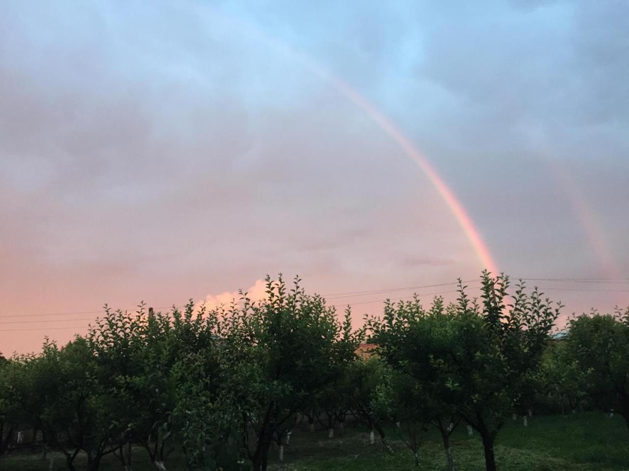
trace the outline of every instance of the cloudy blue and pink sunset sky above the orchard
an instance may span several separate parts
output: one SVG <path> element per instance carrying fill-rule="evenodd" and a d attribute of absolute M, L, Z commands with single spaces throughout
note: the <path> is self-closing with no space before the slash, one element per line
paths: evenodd
<path fill-rule="evenodd" d="M 562 320 L 629 305 L 627 18 L 3 1 L 0 352 L 67 342 L 104 303 L 227 302 L 277 273 L 356 323 L 413 290 L 338 293 L 449 301 L 427 285 L 474 295 L 490 264 Z"/>

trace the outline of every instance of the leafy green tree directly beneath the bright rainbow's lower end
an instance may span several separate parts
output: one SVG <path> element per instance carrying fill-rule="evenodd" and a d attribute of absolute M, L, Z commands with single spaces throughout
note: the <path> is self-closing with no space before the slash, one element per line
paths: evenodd
<path fill-rule="evenodd" d="M 382 357 L 421 382 L 435 411 L 460 415 L 480 433 L 487 471 L 494 471 L 494 440 L 509 412 L 535 390 L 559 306 L 553 309 L 537 289 L 526 295 L 522 284 L 507 306 L 508 277 L 484 272 L 481 281 L 481 305 L 459 282 L 456 304 L 444 308 L 437 298 L 425 310 L 416 298 L 387 303 L 384 318 L 372 319 L 370 328 Z"/>

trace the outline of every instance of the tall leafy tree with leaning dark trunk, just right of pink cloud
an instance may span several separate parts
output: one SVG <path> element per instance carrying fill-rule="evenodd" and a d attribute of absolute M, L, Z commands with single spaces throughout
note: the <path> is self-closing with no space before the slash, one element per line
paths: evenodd
<path fill-rule="evenodd" d="M 243 411 L 244 443 L 254 470 L 267 467 L 276 432 L 312 404 L 333 381 L 338 365 L 353 358 L 359 338 L 321 296 L 306 295 L 295 278 L 287 290 L 281 275 L 267 277 L 267 297 L 255 303 L 243 293 L 240 309 L 220 311 L 221 337 L 257 368 L 257 381 L 243 384 L 253 409 Z M 255 436 L 247 436 L 252 430 Z"/>

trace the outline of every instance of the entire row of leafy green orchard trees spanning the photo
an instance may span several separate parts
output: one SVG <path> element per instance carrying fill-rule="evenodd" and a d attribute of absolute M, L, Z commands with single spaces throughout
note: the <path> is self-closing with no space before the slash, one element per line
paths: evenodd
<path fill-rule="evenodd" d="M 493 471 L 506 418 L 533 403 L 559 411 L 587 401 L 627 420 L 629 310 L 575 318 L 567 340 L 549 344 L 559 307 L 537 290 L 517 285 L 511 297 L 508 288 L 506 276 L 484 273 L 478 301 L 460 285 L 447 306 L 442 298 L 428 308 L 418 298 L 387 302 L 384 316 L 367 322 L 377 344 L 368 359 L 354 353 L 364 330 L 353 330 L 351 312 L 338 319 L 299 279 L 289 289 L 281 276 L 267 277 L 263 300 L 242 293 L 211 310 L 192 302 L 167 313 L 106 308 L 85 338 L 0 357 L 0 453 L 8 431 L 30 425 L 70 470 L 96 471 L 114 455 L 128 468 L 142 447 L 160 469 L 258 471 L 272 443 L 286 445 L 298 414 L 317 411 L 328 429 L 351 414 L 389 452 L 405 444 L 416 463 L 433 453 L 435 435 L 450 470 L 451 443 L 457 461 L 471 453 L 456 431 L 465 421 Z"/>

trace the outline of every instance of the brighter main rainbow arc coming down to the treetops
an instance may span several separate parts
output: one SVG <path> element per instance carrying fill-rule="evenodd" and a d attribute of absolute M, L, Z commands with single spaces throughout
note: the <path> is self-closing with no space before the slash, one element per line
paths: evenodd
<path fill-rule="evenodd" d="M 411 158 L 411 160 L 413 160 L 420 167 L 421 171 L 423 171 L 423 173 L 428 177 L 428 180 L 430 180 L 433 187 L 437 189 L 437 192 L 441 195 L 448 208 L 450 208 L 450 211 L 457 222 L 459 222 L 465 236 L 474 248 L 474 252 L 476 252 L 477 257 L 481 261 L 482 266 L 492 273 L 498 273 L 497 264 L 494 261 L 489 248 L 487 248 L 487 244 L 482 239 L 481 233 L 476 228 L 476 225 L 474 225 L 474 222 L 472 222 L 472 219 L 469 214 L 467 214 L 467 211 L 465 211 L 462 203 L 457 197 L 455 197 L 454 192 L 452 192 L 450 187 L 448 187 L 445 181 L 443 181 L 443 178 L 441 178 L 441 176 L 437 173 L 437 170 L 435 170 L 426 157 L 423 156 L 423 154 L 415 146 L 413 146 L 413 143 L 404 136 L 404 133 L 402 133 L 398 127 L 387 119 L 382 112 L 365 99 L 363 95 L 360 95 L 357 90 L 350 87 L 350 85 L 346 82 L 343 82 L 343 80 L 336 77 L 330 71 L 321 67 L 321 65 L 316 63 L 313 59 L 297 51 L 292 46 L 272 38 L 251 23 L 244 23 L 240 19 L 228 17 L 216 9 L 212 9 L 212 11 L 214 14 L 220 16 L 222 21 L 228 21 L 243 33 L 252 35 L 256 40 L 262 40 L 276 50 L 286 53 L 293 60 L 300 63 L 304 68 L 313 72 L 315 75 L 330 84 L 334 89 L 340 92 L 340 94 L 355 104 L 355 106 L 364 111 L 365 114 L 367 114 L 367 116 L 369 116 L 370 119 L 377 124 L 380 129 L 382 129 L 382 131 L 384 131 L 384 133 L 386 133 L 393 141 L 396 142 L 396 144 L 398 144 L 404 154 Z"/>

